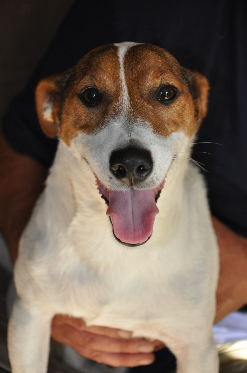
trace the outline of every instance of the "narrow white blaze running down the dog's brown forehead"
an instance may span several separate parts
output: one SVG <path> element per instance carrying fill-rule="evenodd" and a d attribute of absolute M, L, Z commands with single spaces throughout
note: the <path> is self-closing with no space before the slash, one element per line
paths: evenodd
<path fill-rule="evenodd" d="M 129 95 L 128 95 L 128 88 L 127 88 L 126 80 L 125 80 L 124 59 L 129 48 L 137 44 L 139 43 L 133 43 L 132 41 L 125 41 L 124 43 L 114 44 L 116 47 L 118 47 L 118 58 L 119 58 L 119 63 L 120 63 L 120 80 L 121 80 L 121 85 L 122 85 L 122 92 L 120 95 L 119 104 L 122 105 L 122 107 L 124 108 L 126 112 L 129 110 Z"/>

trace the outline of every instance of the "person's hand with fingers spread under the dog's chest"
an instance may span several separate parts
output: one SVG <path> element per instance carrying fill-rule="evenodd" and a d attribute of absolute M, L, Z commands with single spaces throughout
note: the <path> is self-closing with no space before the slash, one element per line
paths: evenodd
<path fill-rule="evenodd" d="M 86 327 L 83 320 L 64 315 L 54 317 L 52 338 L 73 347 L 86 358 L 114 367 L 151 364 L 154 361 L 152 352 L 164 347 L 160 341 L 131 338 L 127 330 Z"/>

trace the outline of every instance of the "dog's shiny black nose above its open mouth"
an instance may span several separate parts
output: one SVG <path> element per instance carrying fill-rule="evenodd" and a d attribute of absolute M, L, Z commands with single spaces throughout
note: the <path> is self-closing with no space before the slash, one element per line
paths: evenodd
<path fill-rule="evenodd" d="M 134 186 L 144 181 L 153 169 L 150 151 L 127 147 L 110 156 L 110 172 L 121 182 Z"/>

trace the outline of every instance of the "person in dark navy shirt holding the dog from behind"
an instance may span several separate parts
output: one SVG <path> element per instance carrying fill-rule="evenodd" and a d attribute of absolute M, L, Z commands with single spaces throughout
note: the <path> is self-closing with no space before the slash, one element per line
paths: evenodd
<path fill-rule="evenodd" d="M 26 89 L 3 117 L 0 225 L 13 262 L 57 146 L 39 127 L 34 104 L 38 81 L 70 68 L 94 47 L 126 40 L 151 43 L 209 79 L 208 115 L 196 140 L 205 144 L 196 144 L 194 151 L 212 155 L 194 153 L 194 158 L 209 171 L 204 176 L 220 248 L 216 321 L 247 303 L 246 11 L 244 1 L 230 0 L 153 1 L 141 7 L 138 1 L 109 0 L 98 2 L 97 7 L 75 1 Z M 52 337 L 104 364 L 81 363 L 73 350 L 66 352 L 78 359 L 77 366 L 81 364 L 86 373 L 108 372 L 108 365 L 132 367 L 134 372 L 174 370 L 173 356 L 159 341 L 131 339 L 131 331 L 86 327 L 82 320 L 57 315 Z M 150 365 L 155 350 L 159 351 Z"/>

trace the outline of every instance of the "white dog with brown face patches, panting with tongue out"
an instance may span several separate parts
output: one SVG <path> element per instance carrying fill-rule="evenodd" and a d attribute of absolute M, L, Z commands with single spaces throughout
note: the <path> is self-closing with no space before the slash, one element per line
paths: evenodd
<path fill-rule="evenodd" d="M 58 313 L 164 342 L 177 373 L 218 372 L 218 248 L 189 158 L 208 90 L 164 49 L 131 42 L 39 83 L 41 127 L 60 141 L 20 240 L 13 373 L 46 372 Z"/>

